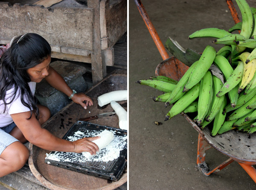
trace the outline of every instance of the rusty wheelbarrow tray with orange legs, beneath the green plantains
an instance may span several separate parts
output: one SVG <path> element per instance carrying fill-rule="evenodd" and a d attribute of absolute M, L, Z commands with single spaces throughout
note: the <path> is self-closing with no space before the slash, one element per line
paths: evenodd
<path fill-rule="evenodd" d="M 177 76 L 177 73 L 183 73 L 187 68 L 186 65 L 175 57 L 171 57 L 168 61 L 164 60 L 157 65 L 155 74 L 156 76 L 163 75 L 179 80 L 182 76 Z M 195 122 L 193 122 L 193 119 L 191 119 L 195 117 L 193 113 L 183 114 L 183 117 L 199 133 L 197 164 L 205 175 L 209 176 L 211 173 L 218 172 L 231 162 L 236 161 L 256 182 L 256 170 L 253 167 L 253 165 L 256 164 L 256 133 L 248 135 L 247 132 L 230 130 L 221 135 L 211 136 L 212 123 L 202 130 L 195 124 Z M 211 147 L 230 157 L 230 159 L 213 170 L 210 170 L 205 163 L 206 150 Z"/>

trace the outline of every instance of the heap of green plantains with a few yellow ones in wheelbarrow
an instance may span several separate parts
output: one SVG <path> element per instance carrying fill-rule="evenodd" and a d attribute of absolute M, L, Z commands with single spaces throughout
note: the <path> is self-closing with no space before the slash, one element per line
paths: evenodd
<path fill-rule="evenodd" d="M 256 131 L 256 9 L 246 0 L 236 3 L 242 21 L 229 31 L 204 28 L 189 35 L 216 38 L 212 43 L 224 44 L 218 52 L 207 45 L 179 81 L 165 76 L 137 81 L 164 92 L 154 101 L 165 102 L 165 107 L 173 104 L 165 121 L 194 112 L 194 122 L 201 128 L 213 122 L 212 136 L 232 129 Z M 240 34 L 232 34 L 238 30 Z M 223 77 L 212 72 L 214 66 Z"/>

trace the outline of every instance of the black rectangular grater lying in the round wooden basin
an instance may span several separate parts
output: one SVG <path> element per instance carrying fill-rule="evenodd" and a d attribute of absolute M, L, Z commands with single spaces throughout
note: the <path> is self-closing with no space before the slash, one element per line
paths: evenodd
<path fill-rule="evenodd" d="M 68 136 L 73 136 L 76 131 L 87 131 L 87 130 L 113 130 L 115 131 L 115 136 L 127 136 L 127 130 L 122 130 L 118 128 L 111 128 L 108 126 L 102 126 L 93 124 L 90 122 L 77 121 L 70 130 L 64 135 L 63 139 L 67 139 Z M 84 136 L 88 137 L 88 136 Z M 60 153 L 62 158 L 67 160 L 76 160 L 79 156 L 83 156 L 82 153 L 65 153 L 65 152 L 51 152 L 49 154 Z M 68 161 L 55 161 L 46 158 L 45 163 L 51 164 L 57 167 L 62 167 L 68 170 L 73 170 L 76 172 L 84 173 L 91 176 L 97 176 L 104 179 L 110 179 L 113 181 L 118 181 L 127 166 L 127 140 L 125 141 L 124 148 L 120 151 L 119 158 L 114 159 L 109 162 L 68 162 Z"/>

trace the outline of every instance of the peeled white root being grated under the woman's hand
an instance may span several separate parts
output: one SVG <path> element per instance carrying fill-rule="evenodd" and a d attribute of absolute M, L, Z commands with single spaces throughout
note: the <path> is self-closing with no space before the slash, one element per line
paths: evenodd
<path fill-rule="evenodd" d="M 99 147 L 99 152 L 114 139 L 114 134 L 111 131 L 106 129 L 103 130 L 101 133 L 99 133 L 99 135 L 97 136 L 100 136 L 100 138 L 92 142 L 94 142 Z M 82 153 L 87 159 L 90 159 L 93 156 L 89 152 L 82 152 Z"/>

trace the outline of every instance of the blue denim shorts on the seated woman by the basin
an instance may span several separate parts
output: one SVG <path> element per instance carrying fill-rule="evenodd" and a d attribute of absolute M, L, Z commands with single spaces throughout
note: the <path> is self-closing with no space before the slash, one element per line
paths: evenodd
<path fill-rule="evenodd" d="M 12 131 L 12 129 L 15 128 L 15 126 L 15 123 L 12 122 L 10 125 L 0 128 L 0 155 L 3 152 L 3 150 L 6 149 L 6 147 L 11 145 L 13 142 L 18 141 L 12 135 L 9 134 Z"/>

